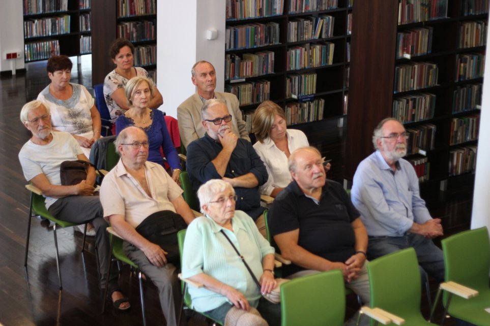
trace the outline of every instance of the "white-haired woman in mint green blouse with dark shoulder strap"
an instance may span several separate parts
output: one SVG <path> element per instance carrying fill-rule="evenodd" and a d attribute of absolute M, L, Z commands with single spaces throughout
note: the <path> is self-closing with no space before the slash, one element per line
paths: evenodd
<path fill-rule="evenodd" d="M 199 187 L 197 196 L 205 216 L 189 224 L 182 258 L 183 277 L 204 285 L 189 287 L 193 309 L 226 325 L 280 325 L 280 305 L 261 297 L 276 285 L 274 248 L 250 216 L 235 211 L 235 190 L 229 183 L 210 180 Z"/>

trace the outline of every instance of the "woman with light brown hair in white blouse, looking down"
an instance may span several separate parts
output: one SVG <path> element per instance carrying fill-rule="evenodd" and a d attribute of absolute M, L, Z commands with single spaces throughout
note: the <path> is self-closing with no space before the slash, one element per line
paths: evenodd
<path fill-rule="evenodd" d="M 302 131 L 286 128 L 284 110 L 272 101 L 261 103 L 255 110 L 252 132 L 257 138 L 253 148 L 269 174 L 261 193 L 275 198 L 291 182 L 287 158 L 295 149 L 308 146 L 308 140 Z M 329 170 L 330 163 L 325 166 L 325 172 Z"/>

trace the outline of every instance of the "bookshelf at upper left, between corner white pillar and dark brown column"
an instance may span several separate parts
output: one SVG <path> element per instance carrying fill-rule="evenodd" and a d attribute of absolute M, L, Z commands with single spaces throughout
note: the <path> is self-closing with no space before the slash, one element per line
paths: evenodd
<path fill-rule="evenodd" d="M 24 1 L 24 61 L 91 53 L 90 16 L 90 0 Z"/>

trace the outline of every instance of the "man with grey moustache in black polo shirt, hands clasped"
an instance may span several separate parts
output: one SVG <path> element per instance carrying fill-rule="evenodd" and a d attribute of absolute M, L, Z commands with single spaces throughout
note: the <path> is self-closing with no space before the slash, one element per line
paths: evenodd
<path fill-rule="evenodd" d="M 269 212 L 270 231 L 292 264 L 284 276 L 295 278 L 340 269 L 345 286 L 369 304 L 367 233 L 342 186 L 325 179 L 322 156 L 314 147 L 295 150 L 288 159 L 293 181 Z M 351 324 L 355 317 L 348 322 Z M 367 318 L 361 324 L 368 324 Z"/>

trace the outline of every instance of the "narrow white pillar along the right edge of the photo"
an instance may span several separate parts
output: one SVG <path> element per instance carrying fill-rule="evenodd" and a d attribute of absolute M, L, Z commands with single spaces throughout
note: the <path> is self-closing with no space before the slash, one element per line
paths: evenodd
<path fill-rule="evenodd" d="M 486 44 L 490 45 L 490 33 Z M 490 230 L 490 61 L 485 60 L 484 76 L 471 229 L 487 226 Z"/>

